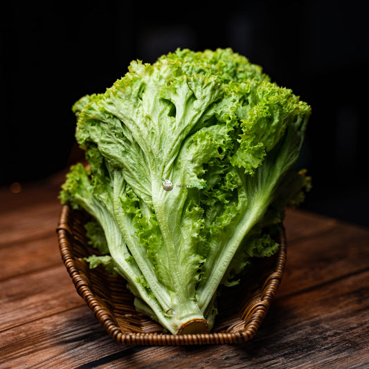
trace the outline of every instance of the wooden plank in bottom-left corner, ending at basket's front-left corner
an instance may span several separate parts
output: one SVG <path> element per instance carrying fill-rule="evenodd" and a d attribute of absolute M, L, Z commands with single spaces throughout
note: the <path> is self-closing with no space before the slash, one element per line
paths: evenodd
<path fill-rule="evenodd" d="M 70 369 L 127 349 L 76 307 L 0 332 L 0 368 Z"/>

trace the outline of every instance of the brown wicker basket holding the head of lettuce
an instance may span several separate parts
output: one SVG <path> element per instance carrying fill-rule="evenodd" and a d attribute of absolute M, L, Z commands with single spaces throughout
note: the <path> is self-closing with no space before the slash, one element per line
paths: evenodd
<path fill-rule="evenodd" d="M 163 333 L 161 325 L 136 312 L 134 297 L 123 278 L 112 276 L 102 267 L 89 269 L 83 258 L 96 250 L 86 240 L 87 219 L 86 213 L 62 206 L 57 227 L 60 252 L 78 294 L 116 341 L 129 345 L 240 343 L 258 331 L 282 279 L 287 256 L 285 235 L 278 240 L 276 255 L 255 260 L 245 284 L 222 289 L 219 314 L 210 334 L 173 335 Z"/>

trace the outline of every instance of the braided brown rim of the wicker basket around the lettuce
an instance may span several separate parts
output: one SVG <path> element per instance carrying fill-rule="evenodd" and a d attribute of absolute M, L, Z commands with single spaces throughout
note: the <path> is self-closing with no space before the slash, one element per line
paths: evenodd
<path fill-rule="evenodd" d="M 279 250 L 276 254 L 276 262 L 273 270 L 268 273 L 267 279 L 260 287 L 260 298 L 257 303 L 251 305 L 249 321 L 243 330 L 238 332 L 210 332 L 206 334 L 181 334 L 170 333 L 132 333 L 124 332 L 111 317 L 105 307 L 103 307 L 96 294 L 90 287 L 89 280 L 83 276 L 78 268 L 75 255 L 73 255 L 73 209 L 68 205 L 62 205 L 59 223 L 57 225 L 57 237 L 59 241 L 60 253 L 64 266 L 73 280 L 73 285 L 78 294 L 93 311 L 98 321 L 107 330 L 108 334 L 116 341 L 129 345 L 201 345 L 201 344 L 230 344 L 249 341 L 258 331 L 264 317 L 266 316 L 271 301 L 276 295 L 282 274 L 287 260 L 287 244 L 285 238 L 285 228 L 282 225 L 282 235 L 278 242 Z"/>

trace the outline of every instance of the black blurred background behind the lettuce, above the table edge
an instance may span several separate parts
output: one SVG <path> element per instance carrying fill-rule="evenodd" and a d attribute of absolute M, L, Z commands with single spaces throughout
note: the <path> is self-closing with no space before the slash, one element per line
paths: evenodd
<path fill-rule="evenodd" d="M 303 207 L 369 226 L 368 3 L 11 2 L 0 15 L 0 186 L 78 159 L 71 106 L 131 60 L 231 47 L 312 105 L 299 165 L 314 187 Z"/>

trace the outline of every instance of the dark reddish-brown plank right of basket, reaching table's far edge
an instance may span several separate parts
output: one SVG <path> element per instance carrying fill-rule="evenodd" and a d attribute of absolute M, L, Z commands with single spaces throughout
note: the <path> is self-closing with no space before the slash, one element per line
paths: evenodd
<path fill-rule="evenodd" d="M 287 241 L 278 295 L 294 294 L 369 268 L 369 230 L 336 224 L 314 237 Z"/>

